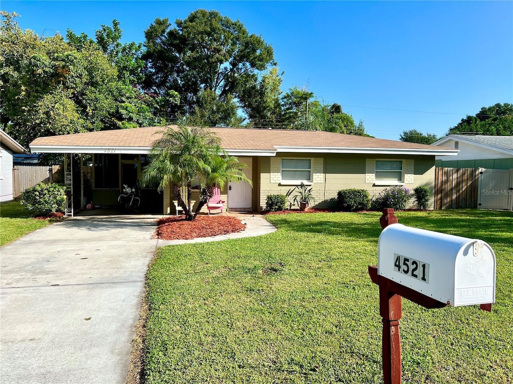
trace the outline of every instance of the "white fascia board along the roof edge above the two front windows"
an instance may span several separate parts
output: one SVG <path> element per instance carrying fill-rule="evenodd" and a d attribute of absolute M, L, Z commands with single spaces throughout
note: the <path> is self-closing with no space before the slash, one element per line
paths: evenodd
<path fill-rule="evenodd" d="M 347 154 L 367 154 L 367 155 L 424 155 L 424 156 L 456 156 L 459 150 L 416 150 L 399 148 L 353 148 L 353 147 L 309 147 L 309 146 L 276 146 L 278 152 L 293 153 L 347 153 Z"/>

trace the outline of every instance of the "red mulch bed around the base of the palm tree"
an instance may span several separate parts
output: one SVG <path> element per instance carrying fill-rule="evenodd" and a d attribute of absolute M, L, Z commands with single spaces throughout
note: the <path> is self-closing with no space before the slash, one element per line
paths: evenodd
<path fill-rule="evenodd" d="M 239 219 L 228 216 L 198 216 L 194 221 L 186 221 L 185 216 L 174 216 L 157 220 L 157 224 L 155 237 L 161 240 L 207 238 L 246 229 Z"/>

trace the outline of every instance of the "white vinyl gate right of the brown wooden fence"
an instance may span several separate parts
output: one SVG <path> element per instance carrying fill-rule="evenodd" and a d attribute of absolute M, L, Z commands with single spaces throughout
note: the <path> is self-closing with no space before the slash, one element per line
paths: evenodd
<path fill-rule="evenodd" d="M 513 210 L 513 169 L 479 171 L 478 207 Z"/>

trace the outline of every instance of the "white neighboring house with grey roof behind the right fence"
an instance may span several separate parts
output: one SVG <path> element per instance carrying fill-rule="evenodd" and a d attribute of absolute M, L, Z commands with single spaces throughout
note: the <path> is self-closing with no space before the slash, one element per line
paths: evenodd
<path fill-rule="evenodd" d="M 456 148 L 456 156 L 437 156 L 437 167 L 513 168 L 513 136 L 448 135 L 432 145 Z"/>

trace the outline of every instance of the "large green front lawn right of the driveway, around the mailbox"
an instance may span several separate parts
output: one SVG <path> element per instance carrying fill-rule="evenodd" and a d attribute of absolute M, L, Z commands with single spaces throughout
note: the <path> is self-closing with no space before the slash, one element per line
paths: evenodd
<path fill-rule="evenodd" d="M 380 383 L 380 214 L 267 216 L 272 234 L 161 248 L 148 271 L 148 383 Z M 399 212 L 405 225 L 488 242 L 497 302 L 403 301 L 405 383 L 513 380 L 513 214 Z"/>

